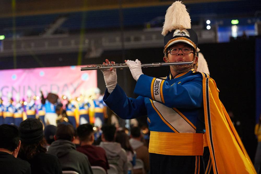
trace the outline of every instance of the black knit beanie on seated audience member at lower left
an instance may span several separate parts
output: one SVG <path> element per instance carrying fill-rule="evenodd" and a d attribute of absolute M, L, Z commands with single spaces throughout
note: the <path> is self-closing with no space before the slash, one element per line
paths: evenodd
<path fill-rule="evenodd" d="M 27 118 L 22 121 L 18 129 L 22 143 L 34 144 L 43 139 L 43 124 L 35 118 Z"/>

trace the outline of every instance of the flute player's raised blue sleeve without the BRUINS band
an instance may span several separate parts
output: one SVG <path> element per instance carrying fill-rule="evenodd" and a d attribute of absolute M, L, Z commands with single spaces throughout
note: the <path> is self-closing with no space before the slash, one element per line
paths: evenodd
<path fill-rule="evenodd" d="M 103 101 L 122 119 L 133 119 L 147 115 L 144 97 L 129 98 L 118 84 L 111 94 L 106 89 Z"/>

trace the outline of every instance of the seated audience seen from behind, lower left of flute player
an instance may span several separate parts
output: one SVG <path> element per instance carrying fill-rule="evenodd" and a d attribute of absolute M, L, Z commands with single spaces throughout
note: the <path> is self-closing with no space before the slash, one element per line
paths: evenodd
<path fill-rule="evenodd" d="M 98 141 L 87 123 L 77 129 L 68 122 L 58 126 L 28 118 L 15 125 L 0 125 L 0 171 L 3 173 L 148 173 L 149 152 L 143 131 L 130 132 L 103 125 Z M 97 144 L 95 146 L 95 144 Z M 140 164 L 141 167 L 140 167 Z M 13 167 L 16 166 L 16 167 Z M 115 169 L 115 171 L 110 171 Z"/>

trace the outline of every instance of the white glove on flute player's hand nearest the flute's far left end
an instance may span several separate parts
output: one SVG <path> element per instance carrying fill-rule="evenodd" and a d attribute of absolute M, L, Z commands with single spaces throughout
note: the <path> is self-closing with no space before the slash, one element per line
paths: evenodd
<path fill-rule="evenodd" d="M 117 85 L 117 73 L 116 69 L 101 69 L 108 92 L 111 93 Z"/>

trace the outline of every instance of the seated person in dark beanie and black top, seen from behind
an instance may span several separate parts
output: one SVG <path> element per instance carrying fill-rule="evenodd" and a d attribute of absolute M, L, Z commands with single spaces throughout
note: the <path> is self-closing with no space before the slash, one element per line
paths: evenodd
<path fill-rule="evenodd" d="M 32 173 L 62 173 L 60 161 L 55 155 L 46 154 L 43 140 L 43 124 L 35 118 L 28 118 L 19 126 L 21 148 L 19 158 L 31 164 Z"/>

